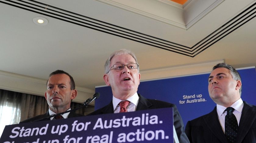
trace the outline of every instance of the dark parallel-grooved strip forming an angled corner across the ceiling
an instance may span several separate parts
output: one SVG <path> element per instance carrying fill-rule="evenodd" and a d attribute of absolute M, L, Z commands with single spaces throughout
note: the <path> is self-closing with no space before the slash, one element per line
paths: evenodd
<path fill-rule="evenodd" d="M 104 2 L 109 1 L 112 2 L 112 0 L 104 0 Z M 222 1 L 223 0 L 215 1 L 214 6 L 218 5 Z M 111 23 L 100 21 L 98 19 L 90 18 L 85 15 L 80 15 L 78 13 L 70 12 L 65 9 L 54 7 L 52 5 L 44 4 L 34 0 L 28 0 L 26 2 L 20 0 L 0 0 L 0 2 L 5 3 L 7 5 L 15 6 L 17 8 L 22 8 L 31 12 L 36 12 L 52 18 L 56 18 L 59 20 L 63 20 L 72 24 L 80 25 L 86 28 L 91 28 L 100 32 L 119 36 L 135 42 L 150 45 L 156 48 L 161 48 L 170 52 L 186 55 L 189 57 L 195 57 L 196 55 L 200 54 L 205 49 L 209 48 L 222 38 L 226 37 L 231 32 L 233 32 L 240 26 L 244 25 L 245 23 L 249 22 L 256 16 L 256 2 L 254 2 L 249 7 L 235 15 L 231 20 L 221 25 L 214 32 L 210 33 L 205 38 L 197 42 L 195 45 L 193 45 L 192 47 L 187 47 L 185 45 L 177 44 L 175 42 L 167 41 L 151 35 L 133 31 L 131 29 L 123 28 L 118 25 L 113 25 Z M 211 8 L 213 8 L 214 6 L 212 6 Z"/>

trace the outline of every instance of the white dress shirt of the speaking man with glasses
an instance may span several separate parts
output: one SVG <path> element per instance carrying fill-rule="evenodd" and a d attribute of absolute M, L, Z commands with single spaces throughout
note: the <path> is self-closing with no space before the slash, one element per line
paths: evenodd
<path fill-rule="evenodd" d="M 136 108 L 137 108 L 137 105 L 139 102 L 139 96 L 138 96 L 137 92 L 133 96 L 131 96 L 130 98 L 128 98 L 126 100 L 130 101 L 129 105 L 126 107 L 127 112 L 136 111 Z M 120 100 L 113 96 L 112 101 L 113 101 L 114 113 L 119 113 L 120 106 L 118 104 L 123 100 Z"/>

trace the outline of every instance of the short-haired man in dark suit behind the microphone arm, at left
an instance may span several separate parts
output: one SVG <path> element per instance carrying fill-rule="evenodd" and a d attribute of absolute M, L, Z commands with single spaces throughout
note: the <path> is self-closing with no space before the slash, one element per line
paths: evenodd
<path fill-rule="evenodd" d="M 48 118 L 50 115 L 58 114 L 70 110 L 71 100 L 76 98 L 77 90 L 75 89 L 75 82 L 71 75 L 62 70 L 56 70 L 49 75 L 46 82 L 47 90 L 44 94 L 45 99 L 49 105 L 49 110 L 42 115 L 29 118 L 20 123 L 38 121 L 38 120 L 54 120 L 55 118 Z M 71 111 L 65 113 L 58 118 L 72 118 L 83 116 Z"/>

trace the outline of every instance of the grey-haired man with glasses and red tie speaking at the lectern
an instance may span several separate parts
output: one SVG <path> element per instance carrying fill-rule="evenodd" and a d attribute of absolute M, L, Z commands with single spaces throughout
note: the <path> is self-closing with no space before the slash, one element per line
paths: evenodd
<path fill-rule="evenodd" d="M 112 101 L 107 106 L 89 115 L 173 107 L 174 126 L 178 139 L 180 143 L 189 143 L 176 105 L 164 101 L 146 99 L 137 94 L 140 73 L 137 58 L 133 52 L 122 49 L 112 53 L 105 63 L 103 78 L 106 85 L 111 86 Z M 123 107 L 123 104 L 126 104 L 126 106 Z"/>

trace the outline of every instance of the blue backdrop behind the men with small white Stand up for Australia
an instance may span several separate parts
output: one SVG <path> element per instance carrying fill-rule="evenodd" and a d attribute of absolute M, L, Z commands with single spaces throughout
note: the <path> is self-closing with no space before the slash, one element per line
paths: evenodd
<path fill-rule="evenodd" d="M 256 105 L 255 67 L 237 70 L 242 78 L 242 96 L 244 101 Z M 188 75 L 183 77 L 141 81 L 138 93 L 149 99 L 173 103 L 177 106 L 184 125 L 202 115 L 208 114 L 216 104 L 208 94 L 208 77 L 210 73 Z M 95 101 L 95 109 L 107 105 L 112 100 L 110 87 L 96 87 L 101 97 Z"/>

